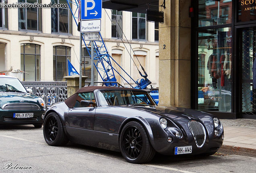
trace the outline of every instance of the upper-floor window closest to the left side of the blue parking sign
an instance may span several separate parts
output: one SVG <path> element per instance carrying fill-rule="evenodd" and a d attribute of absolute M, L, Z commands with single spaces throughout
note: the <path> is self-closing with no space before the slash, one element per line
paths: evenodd
<path fill-rule="evenodd" d="M 67 4 L 66 0 L 52 0 L 52 4 Z M 70 7 L 72 4 L 70 3 Z M 52 8 L 52 33 L 72 34 L 72 14 L 68 8 Z"/>

